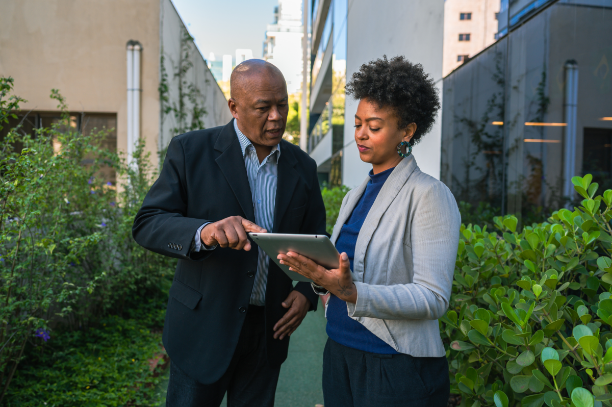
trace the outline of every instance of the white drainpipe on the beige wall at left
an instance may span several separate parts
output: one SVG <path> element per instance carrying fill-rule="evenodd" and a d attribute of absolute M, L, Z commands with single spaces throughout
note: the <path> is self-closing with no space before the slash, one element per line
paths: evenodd
<path fill-rule="evenodd" d="M 138 41 L 127 42 L 127 162 L 132 162 L 140 138 L 140 52 Z"/>

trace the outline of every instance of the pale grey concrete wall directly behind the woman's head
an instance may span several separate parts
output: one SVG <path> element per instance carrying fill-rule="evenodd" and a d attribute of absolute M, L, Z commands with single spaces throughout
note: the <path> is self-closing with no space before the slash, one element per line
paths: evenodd
<path fill-rule="evenodd" d="M 393 0 L 385 7 L 368 0 L 349 2 L 346 78 L 351 78 L 360 65 L 383 54 L 387 58 L 404 55 L 409 61 L 423 64 L 425 72 L 441 88 L 443 23 L 442 0 Z M 343 184 L 349 187 L 359 185 L 371 169 L 370 164 L 359 159 L 354 141 L 356 111 L 357 102 L 347 98 L 342 177 Z M 440 176 L 440 148 L 438 118 L 431 132 L 412 150 L 419 168 L 436 178 Z"/>

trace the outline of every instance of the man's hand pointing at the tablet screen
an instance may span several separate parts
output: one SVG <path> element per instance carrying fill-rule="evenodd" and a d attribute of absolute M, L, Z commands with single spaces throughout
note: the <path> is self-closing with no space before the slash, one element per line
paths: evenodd
<path fill-rule="evenodd" d="M 207 246 L 218 244 L 221 247 L 231 247 L 236 250 L 244 248 L 248 252 L 251 250 L 251 242 L 248 241 L 247 236 L 249 232 L 266 233 L 267 230 L 241 216 L 231 216 L 204 226 L 200 239 Z"/>

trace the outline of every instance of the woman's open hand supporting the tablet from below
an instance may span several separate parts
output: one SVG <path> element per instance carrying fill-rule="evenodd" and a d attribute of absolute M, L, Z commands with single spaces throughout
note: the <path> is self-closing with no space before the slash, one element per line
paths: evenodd
<path fill-rule="evenodd" d="M 308 277 L 316 285 L 322 286 L 330 293 L 346 302 L 357 302 L 357 287 L 353 283 L 351 275 L 351 263 L 346 253 L 340 255 L 340 268 L 327 270 L 314 261 L 294 252 L 286 255 L 278 255 L 280 264 L 289 266 L 289 270 Z"/>

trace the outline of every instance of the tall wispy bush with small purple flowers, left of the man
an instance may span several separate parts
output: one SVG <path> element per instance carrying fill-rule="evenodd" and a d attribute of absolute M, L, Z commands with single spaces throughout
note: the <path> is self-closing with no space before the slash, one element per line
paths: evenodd
<path fill-rule="evenodd" d="M 0 78 L 0 130 L 21 99 Z M 24 355 L 54 332 L 99 326 L 143 298 L 166 298 L 173 261 L 132 239 L 136 211 L 155 179 L 140 143 L 132 165 L 102 148 L 108 129 L 61 121 L 0 141 L 0 403 Z M 112 168 L 121 189 L 103 176 Z M 168 277 L 165 277 L 168 274 Z M 167 289 L 167 287 L 166 287 Z M 48 346 L 47 351 L 53 351 Z"/>

